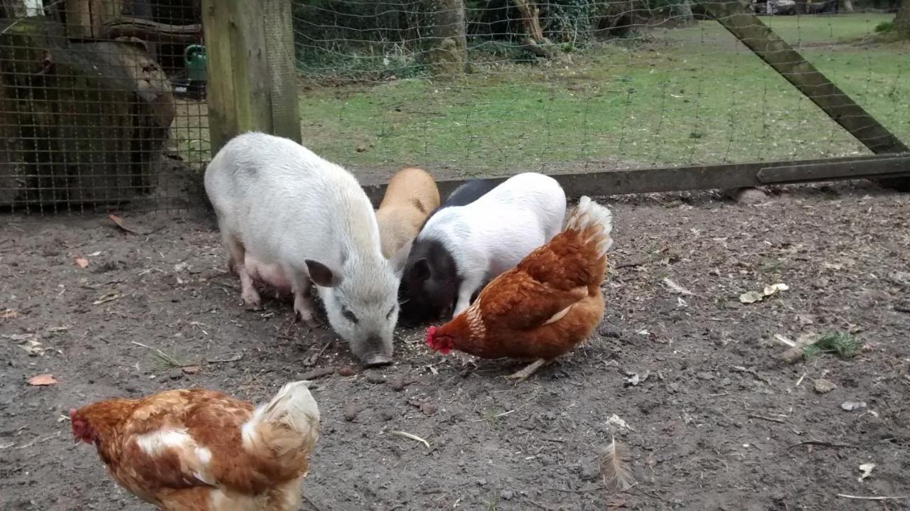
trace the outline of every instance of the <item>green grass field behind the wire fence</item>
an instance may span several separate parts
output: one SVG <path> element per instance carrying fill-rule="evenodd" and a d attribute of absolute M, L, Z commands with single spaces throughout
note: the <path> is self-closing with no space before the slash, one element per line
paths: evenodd
<path fill-rule="evenodd" d="M 762 19 L 910 141 L 906 49 L 842 44 L 873 34 L 888 15 Z M 354 168 L 425 165 L 456 175 L 866 153 L 714 22 L 548 63 L 478 68 L 458 82 L 308 87 L 299 102 L 304 144 Z"/>

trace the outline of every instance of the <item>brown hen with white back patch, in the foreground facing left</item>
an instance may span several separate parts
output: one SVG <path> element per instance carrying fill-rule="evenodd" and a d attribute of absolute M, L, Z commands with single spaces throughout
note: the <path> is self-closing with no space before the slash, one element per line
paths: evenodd
<path fill-rule="evenodd" d="M 100 401 L 70 420 L 117 483 L 164 511 L 296 511 L 319 437 L 305 381 L 256 409 L 193 388 Z"/>

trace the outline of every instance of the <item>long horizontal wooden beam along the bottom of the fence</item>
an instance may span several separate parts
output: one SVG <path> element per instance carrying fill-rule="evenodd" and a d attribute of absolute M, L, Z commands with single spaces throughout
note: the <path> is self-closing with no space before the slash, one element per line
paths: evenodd
<path fill-rule="evenodd" d="M 910 156 L 861 156 L 830 160 L 695 165 L 643 168 L 551 175 L 560 182 L 566 195 L 606 196 L 712 190 L 761 185 L 787 185 L 841 179 L 905 178 L 910 176 Z M 501 183 L 507 177 L 490 180 Z M 441 196 L 448 196 L 464 179 L 440 180 Z M 385 184 L 363 185 L 370 201 L 378 206 L 385 195 Z"/>

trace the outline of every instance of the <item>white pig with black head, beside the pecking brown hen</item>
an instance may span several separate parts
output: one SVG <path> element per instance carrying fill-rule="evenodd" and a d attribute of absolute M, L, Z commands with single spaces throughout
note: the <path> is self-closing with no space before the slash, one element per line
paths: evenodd
<path fill-rule="evenodd" d="M 491 278 L 560 232 L 562 187 L 548 175 L 514 175 L 468 205 L 438 210 L 408 255 L 401 292 L 432 319 L 458 316 Z"/>

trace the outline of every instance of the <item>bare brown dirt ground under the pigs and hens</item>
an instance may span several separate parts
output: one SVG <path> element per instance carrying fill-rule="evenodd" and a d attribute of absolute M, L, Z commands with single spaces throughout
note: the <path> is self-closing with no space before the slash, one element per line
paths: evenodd
<path fill-rule="evenodd" d="M 501 376 L 514 363 L 475 368 L 405 330 L 393 366 L 319 377 L 304 509 L 910 509 L 837 496 L 910 495 L 907 195 L 853 184 L 778 190 L 765 205 L 710 193 L 604 202 L 615 244 L 591 343 L 513 386 Z M 151 509 L 74 445 L 70 407 L 186 386 L 261 401 L 356 366 L 329 331 L 292 327 L 288 303 L 243 310 L 202 212 L 121 216 L 139 234 L 103 215 L 3 218 L 2 509 Z M 789 289 L 740 303 L 776 283 Z M 775 335 L 833 330 L 862 354 L 777 360 Z M 31 355 L 29 341 L 41 343 Z M 26 385 L 40 374 L 56 386 Z M 823 377 L 835 387 L 820 394 Z M 599 475 L 612 437 L 637 481 L 624 493 Z"/>

